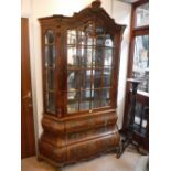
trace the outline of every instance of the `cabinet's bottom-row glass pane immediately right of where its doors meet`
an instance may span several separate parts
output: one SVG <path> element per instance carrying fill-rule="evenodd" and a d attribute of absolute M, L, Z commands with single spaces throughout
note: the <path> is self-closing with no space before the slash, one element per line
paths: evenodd
<path fill-rule="evenodd" d="M 93 98 L 93 108 L 99 108 L 101 106 L 101 90 L 94 89 L 92 94 Z"/>

